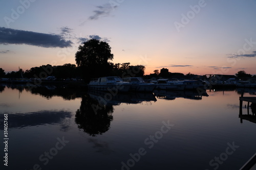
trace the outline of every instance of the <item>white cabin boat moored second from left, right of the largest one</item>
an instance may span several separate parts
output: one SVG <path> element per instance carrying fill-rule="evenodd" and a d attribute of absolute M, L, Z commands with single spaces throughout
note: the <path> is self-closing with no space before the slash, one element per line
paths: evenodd
<path fill-rule="evenodd" d="M 132 91 L 152 92 L 156 87 L 154 83 L 146 83 L 140 77 L 123 78 L 123 81 L 129 82 L 132 84 L 131 86 Z"/>

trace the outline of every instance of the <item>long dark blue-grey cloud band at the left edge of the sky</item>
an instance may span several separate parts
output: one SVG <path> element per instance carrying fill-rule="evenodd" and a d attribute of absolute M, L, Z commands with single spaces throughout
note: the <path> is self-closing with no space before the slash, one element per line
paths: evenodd
<path fill-rule="evenodd" d="M 69 47 L 72 42 L 60 35 L 0 27 L 0 44 L 27 44 L 40 47 Z"/>

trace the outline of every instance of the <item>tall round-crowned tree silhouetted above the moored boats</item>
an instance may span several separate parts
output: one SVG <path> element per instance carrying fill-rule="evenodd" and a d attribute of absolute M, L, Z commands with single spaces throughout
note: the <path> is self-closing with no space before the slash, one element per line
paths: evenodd
<path fill-rule="evenodd" d="M 111 64 L 108 60 L 113 59 L 111 47 L 108 43 L 97 39 L 90 39 L 79 45 L 75 55 L 77 66 L 81 67 L 86 79 L 108 76 L 111 73 Z"/>

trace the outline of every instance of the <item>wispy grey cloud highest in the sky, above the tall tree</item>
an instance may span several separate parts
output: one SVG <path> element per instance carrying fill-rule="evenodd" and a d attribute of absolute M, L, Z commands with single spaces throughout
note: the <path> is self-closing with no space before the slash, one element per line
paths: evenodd
<path fill-rule="evenodd" d="M 96 10 L 93 11 L 93 15 L 89 17 L 89 20 L 97 20 L 101 17 L 109 16 L 110 12 L 113 11 L 118 6 L 111 6 L 111 4 L 104 4 L 97 6 Z"/>

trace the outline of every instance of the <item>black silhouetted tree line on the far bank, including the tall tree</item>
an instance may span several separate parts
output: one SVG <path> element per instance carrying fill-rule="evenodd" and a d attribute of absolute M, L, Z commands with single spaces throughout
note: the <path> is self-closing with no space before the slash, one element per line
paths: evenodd
<path fill-rule="evenodd" d="M 39 67 L 32 67 L 29 70 L 19 69 L 18 71 L 11 71 L 7 74 L 0 68 L 0 78 L 46 78 L 48 76 L 55 76 L 57 79 L 76 78 L 83 79 L 89 82 L 92 78 L 104 76 L 118 76 L 126 77 L 143 77 L 144 65 L 131 65 L 131 63 L 112 63 L 114 55 L 111 53 L 111 47 L 107 42 L 90 39 L 83 42 L 78 47 L 75 54 L 75 64 L 63 64 L 52 66 L 50 64 L 41 65 Z M 170 78 L 183 77 L 184 74 L 180 72 L 169 72 L 167 68 L 154 70 L 154 74 L 147 75 L 146 78 Z M 187 77 L 194 76 L 190 72 Z M 246 74 L 244 70 L 238 71 L 236 74 L 239 78 L 252 77 Z"/>

